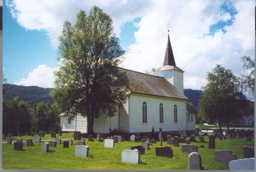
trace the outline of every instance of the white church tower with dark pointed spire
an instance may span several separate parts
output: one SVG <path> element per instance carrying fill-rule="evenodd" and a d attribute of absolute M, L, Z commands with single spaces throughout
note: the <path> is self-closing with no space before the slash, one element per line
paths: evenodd
<path fill-rule="evenodd" d="M 164 77 L 167 81 L 173 84 L 182 94 L 184 94 L 183 72 L 184 71 L 182 71 L 175 64 L 174 56 L 172 53 L 171 41 L 168 33 L 167 46 L 164 55 L 164 64 L 162 67 L 156 70 L 155 75 Z"/>

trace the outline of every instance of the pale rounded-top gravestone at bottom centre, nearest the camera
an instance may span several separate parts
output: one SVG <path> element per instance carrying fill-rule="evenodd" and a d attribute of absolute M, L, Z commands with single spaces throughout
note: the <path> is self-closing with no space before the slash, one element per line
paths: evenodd
<path fill-rule="evenodd" d="M 127 164 L 139 164 L 140 152 L 137 149 L 123 150 L 122 151 L 122 161 Z"/>

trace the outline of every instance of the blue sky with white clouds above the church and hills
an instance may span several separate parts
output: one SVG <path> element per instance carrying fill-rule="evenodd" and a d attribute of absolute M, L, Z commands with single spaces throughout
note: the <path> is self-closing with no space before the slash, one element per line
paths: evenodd
<path fill-rule="evenodd" d="M 253 0 L 13 0 L 4 1 L 3 12 L 3 73 L 8 83 L 53 87 L 63 21 L 74 23 L 79 10 L 87 13 L 93 5 L 113 19 L 126 50 L 121 67 L 130 70 L 162 66 L 168 22 L 185 88 L 201 89 L 216 64 L 242 75 L 241 57 L 254 58 Z"/>

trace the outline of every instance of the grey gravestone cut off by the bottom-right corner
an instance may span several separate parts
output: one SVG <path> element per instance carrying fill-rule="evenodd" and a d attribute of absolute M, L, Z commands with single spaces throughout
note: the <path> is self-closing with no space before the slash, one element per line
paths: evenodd
<path fill-rule="evenodd" d="M 254 158 L 233 160 L 228 166 L 230 170 L 254 170 Z"/>

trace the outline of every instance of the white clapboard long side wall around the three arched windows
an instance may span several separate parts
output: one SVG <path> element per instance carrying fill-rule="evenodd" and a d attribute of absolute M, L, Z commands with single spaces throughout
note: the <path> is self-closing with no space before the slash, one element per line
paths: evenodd
<path fill-rule="evenodd" d="M 147 124 L 142 123 L 142 103 L 147 102 Z M 164 123 L 159 123 L 159 104 L 163 104 Z M 151 132 L 163 128 L 163 131 L 185 131 L 187 128 L 186 100 L 146 96 L 143 94 L 130 95 L 130 133 Z M 174 105 L 177 105 L 178 123 L 174 123 Z"/>

